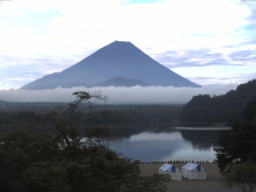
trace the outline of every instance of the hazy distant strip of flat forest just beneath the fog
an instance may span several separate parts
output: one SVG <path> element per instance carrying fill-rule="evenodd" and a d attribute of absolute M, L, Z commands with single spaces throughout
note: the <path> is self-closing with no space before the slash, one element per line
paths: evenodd
<path fill-rule="evenodd" d="M 18 111 L 34 111 L 36 113 L 44 113 L 46 110 L 54 110 L 56 106 L 68 107 L 68 103 L 63 102 L 6 102 L 0 100 L 0 112 L 18 112 Z M 102 110 L 118 110 L 118 111 L 134 111 L 146 115 L 151 120 L 159 118 L 178 119 L 183 105 L 178 104 L 152 104 L 152 105 L 100 105 L 96 104 L 93 108 L 88 106 L 80 106 L 79 110 L 83 113 L 97 112 Z"/>

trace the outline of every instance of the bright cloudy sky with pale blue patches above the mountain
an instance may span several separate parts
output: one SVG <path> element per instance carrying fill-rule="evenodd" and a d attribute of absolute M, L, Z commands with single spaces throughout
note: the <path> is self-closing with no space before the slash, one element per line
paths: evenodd
<path fill-rule="evenodd" d="M 115 40 L 201 85 L 256 78 L 256 1 L 2 1 L 0 29 L 0 90 L 60 72 Z"/>

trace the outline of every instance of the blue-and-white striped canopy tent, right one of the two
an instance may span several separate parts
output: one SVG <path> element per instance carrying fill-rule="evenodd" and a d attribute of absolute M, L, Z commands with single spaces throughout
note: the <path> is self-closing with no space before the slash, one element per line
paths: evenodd
<path fill-rule="evenodd" d="M 182 177 L 194 180 L 206 180 L 208 175 L 206 169 L 195 163 L 188 163 L 181 169 Z"/>

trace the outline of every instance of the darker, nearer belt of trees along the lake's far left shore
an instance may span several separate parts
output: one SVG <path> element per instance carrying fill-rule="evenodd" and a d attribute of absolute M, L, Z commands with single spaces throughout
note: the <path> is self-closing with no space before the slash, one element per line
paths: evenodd
<path fill-rule="evenodd" d="M 72 119 L 80 124 L 82 132 L 93 125 L 108 126 L 116 135 L 133 134 L 148 127 L 148 118 L 132 111 L 102 110 L 99 112 L 74 112 Z M 34 111 L 0 112 L 0 130 L 5 132 L 20 126 L 29 126 L 33 130 L 55 133 L 54 121 L 45 114 Z"/>

